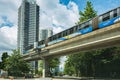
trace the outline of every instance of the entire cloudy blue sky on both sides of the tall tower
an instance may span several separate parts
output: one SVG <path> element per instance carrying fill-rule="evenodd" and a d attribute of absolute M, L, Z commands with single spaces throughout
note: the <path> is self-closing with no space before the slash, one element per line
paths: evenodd
<path fill-rule="evenodd" d="M 54 34 L 75 25 L 87 0 L 36 0 L 40 6 L 40 27 Z M 120 0 L 89 0 L 98 14 L 120 6 Z M 22 0 L 0 0 L 0 56 L 17 47 L 18 8 Z"/>

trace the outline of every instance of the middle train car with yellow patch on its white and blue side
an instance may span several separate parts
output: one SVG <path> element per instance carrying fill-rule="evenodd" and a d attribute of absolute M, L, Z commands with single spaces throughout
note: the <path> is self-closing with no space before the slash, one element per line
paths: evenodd
<path fill-rule="evenodd" d="M 88 32 L 92 32 L 92 30 L 93 30 L 92 20 L 90 19 L 79 25 L 69 28 L 63 32 L 51 36 L 48 40 L 48 45 L 52 45 L 61 41 L 68 40 L 80 34 L 86 34 Z"/>

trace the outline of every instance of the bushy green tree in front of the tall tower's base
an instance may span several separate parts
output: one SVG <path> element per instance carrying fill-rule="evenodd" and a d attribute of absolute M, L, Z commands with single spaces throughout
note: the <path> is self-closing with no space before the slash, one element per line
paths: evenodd
<path fill-rule="evenodd" d="M 6 60 L 6 70 L 11 76 L 22 76 L 30 71 L 27 62 L 21 59 L 19 51 L 13 50 L 13 54 Z"/>

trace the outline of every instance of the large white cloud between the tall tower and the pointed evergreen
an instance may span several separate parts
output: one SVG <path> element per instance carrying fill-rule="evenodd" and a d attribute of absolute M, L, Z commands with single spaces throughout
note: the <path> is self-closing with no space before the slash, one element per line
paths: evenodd
<path fill-rule="evenodd" d="M 59 4 L 59 0 L 37 0 L 37 3 L 41 8 L 40 27 L 53 27 L 54 33 L 74 26 L 79 18 L 78 6 L 73 2 L 68 4 L 70 9 Z"/>

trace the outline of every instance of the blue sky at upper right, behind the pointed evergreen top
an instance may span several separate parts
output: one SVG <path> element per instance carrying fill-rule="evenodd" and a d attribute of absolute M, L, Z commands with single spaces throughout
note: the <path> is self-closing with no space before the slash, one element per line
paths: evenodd
<path fill-rule="evenodd" d="M 86 6 L 86 1 L 90 1 L 98 15 L 120 6 L 120 0 L 60 0 L 59 2 L 67 6 L 70 1 L 78 6 L 79 11 L 83 11 Z"/>

